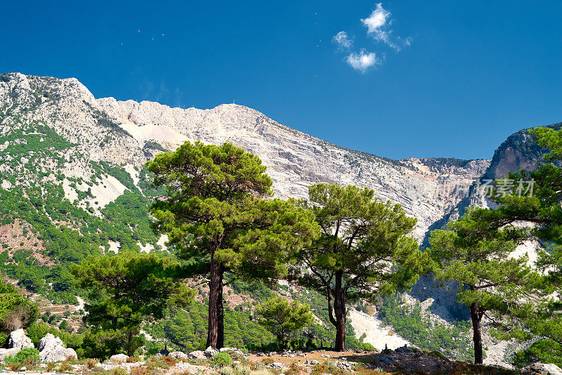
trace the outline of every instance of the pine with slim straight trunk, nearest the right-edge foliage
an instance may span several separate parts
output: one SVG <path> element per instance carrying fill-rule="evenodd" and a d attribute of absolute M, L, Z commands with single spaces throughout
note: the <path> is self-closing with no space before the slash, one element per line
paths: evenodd
<path fill-rule="evenodd" d="M 540 275 L 527 264 L 528 256 L 510 257 L 522 231 L 497 228 L 496 223 L 483 220 L 489 213 L 474 208 L 449 223 L 447 230 L 433 230 L 428 249 L 436 279 L 458 283 L 458 301 L 469 307 L 476 364 L 483 363 L 483 317 L 504 329 L 516 329 L 502 317 L 528 310 L 540 285 Z"/>

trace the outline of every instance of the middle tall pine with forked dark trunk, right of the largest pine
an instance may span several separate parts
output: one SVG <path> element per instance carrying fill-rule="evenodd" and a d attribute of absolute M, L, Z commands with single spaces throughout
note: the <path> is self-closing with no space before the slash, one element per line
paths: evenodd
<path fill-rule="evenodd" d="M 335 350 L 345 350 L 346 304 L 410 287 L 424 256 L 410 236 L 417 220 L 400 204 L 380 202 L 374 191 L 349 185 L 308 187 L 310 208 L 321 235 L 298 258 L 295 276 L 327 297 L 336 327 Z"/>

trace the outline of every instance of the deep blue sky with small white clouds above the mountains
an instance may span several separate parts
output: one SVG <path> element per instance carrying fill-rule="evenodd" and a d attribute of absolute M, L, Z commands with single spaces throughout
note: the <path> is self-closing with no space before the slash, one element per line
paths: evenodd
<path fill-rule="evenodd" d="M 562 1 L 6 1 L 2 13 L 0 72 L 77 77 L 97 98 L 235 100 L 384 157 L 488 158 L 514 131 L 562 121 Z"/>

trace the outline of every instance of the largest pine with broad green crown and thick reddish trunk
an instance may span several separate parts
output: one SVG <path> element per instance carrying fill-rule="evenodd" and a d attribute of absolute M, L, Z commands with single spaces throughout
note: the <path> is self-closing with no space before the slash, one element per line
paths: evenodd
<path fill-rule="evenodd" d="M 185 142 L 148 162 L 166 197 L 152 204 L 157 232 L 192 264 L 185 276 L 209 284 L 207 346 L 224 344 L 225 272 L 273 279 L 287 274 L 294 251 L 318 236 L 313 213 L 270 199 L 271 179 L 253 154 L 230 143 Z"/>

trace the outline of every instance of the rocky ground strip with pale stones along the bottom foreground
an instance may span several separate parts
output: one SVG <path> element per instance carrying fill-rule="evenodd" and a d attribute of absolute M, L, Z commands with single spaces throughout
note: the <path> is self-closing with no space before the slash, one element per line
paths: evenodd
<path fill-rule="evenodd" d="M 221 353 L 221 355 L 219 355 Z M 221 361 L 223 353 L 230 360 Z M 43 356 L 41 356 L 43 357 Z M 235 348 L 223 348 L 220 352 L 207 348 L 189 354 L 174 352 L 153 357 L 127 357 L 114 355 L 105 362 L 98 360 L 54 361 L 41 359 L 41 363 L 28 362 L 23 365 L 0 366 L 4 374 L 44 375 L 273 375 L 273 374 L 550 374 L 562 375 L 561 369 L 552 364 L 533 364 L 513 371 L 502 367 L 478 367 L 463 362 L 452 362 L 440 353 L 427 353 L 403 346 L 381 353 L 358 351 L 332 352 L 328 350 L 290 351 L 277 353 L 242 353 Z"/>

